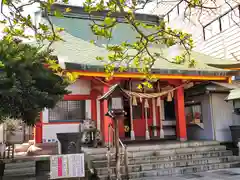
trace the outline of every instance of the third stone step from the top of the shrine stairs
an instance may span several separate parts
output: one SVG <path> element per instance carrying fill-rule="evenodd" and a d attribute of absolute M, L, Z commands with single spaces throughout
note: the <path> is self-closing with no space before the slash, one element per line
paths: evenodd
<path fill-rule="evenodd" d="M 129 165 L 133 164 L 149 164 L 161 161 L 173 161 L 173 160 L 191 160 L 200 158 L 211 158 L 211 157 L 221 157 L 221 156 L 232 156 L 232 151 L 208 151 L 208 152 L 195 152 L 195 153 L 183 153 L 183 154 L 173 154 L 165 156 L 144 156 L 136 158 L 128 158 Z M 111 161 L 111 166 L 115 165 L 115 160 Z M 93 167 L 107 167 L 107 160 L 95 160 L 92 161 Z"/>

